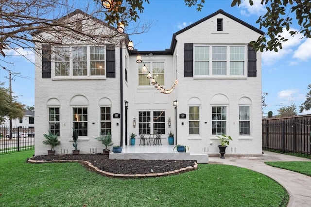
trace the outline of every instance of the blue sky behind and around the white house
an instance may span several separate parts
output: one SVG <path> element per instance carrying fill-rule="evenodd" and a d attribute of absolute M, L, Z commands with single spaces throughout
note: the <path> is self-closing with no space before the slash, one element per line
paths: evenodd
<path fill-rule="evenodd" d="M 79 2 L 83 1 L 86 0 Z M 145 9 L 139 14 L 138 20 L 140 25 L 150 24 L 149 31 L 130 35 L 135 49 L 139 51 L 170 48 L 173 33 L 219 9 L 256 28 L 259 28 L 259 24 L 256 24 L 257 19 L 265 14 L 265 7 L 259 3 L 260 0 L 254 0 L 253 6 L 245 0 L 239 7 L 231 7 L 231 0 L 206 0 L 200 12 L 196 10 L 196 6 L 186 6 L 184 0 L 149 1 L 150 4 L 143 4 Z M 291 28 L 299 29 L 295 21 Z M 130 33 L 130 28 L 125 30 Z M 261 30 L 266 32 L 264 28 Z M 262 109 L 263 115 L 267 116 L 268 111 L 273 111 L 273 115 L 276 115 L 277 109 L 292 104 L 296 105 L 298 115 L 310 114 L 311 111 L 299 113 L 299 106 L 306 100 L 310 91 L 308 85 L 311 84 L 311 39 L 303 38 L 302 35 L 291 37 L 288 32 L 282 35 L 289 40 L 282 44 L 281 50 L 262 53 L 262 93 L 266 94 L 267 104 Z M 20 54 L 24 54 L 27 59 Z M 0 56 L 0 65 L 12 71 L 12 91 L 18 96 L 17 101 L 28 106 L 35 105 L 34 58 L 32 52 L 23 49 L 17 49 L 17 52 L 10 51 L 5 58 Z M 6 64 L 7 62 L 13 64 Z M 5 82 L 5 87 L 9 87 L 8 78 L 8 71 L 0 67 L 0 82 Z"/>

